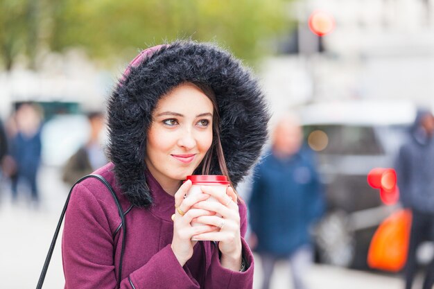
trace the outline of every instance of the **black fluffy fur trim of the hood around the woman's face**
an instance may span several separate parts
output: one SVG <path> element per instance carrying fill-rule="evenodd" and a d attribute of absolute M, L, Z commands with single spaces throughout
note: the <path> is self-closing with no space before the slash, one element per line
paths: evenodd
<path fill-rule="evenodd" d="M 261 155 L 268 107 L 252 73 L 212 44 L 173 42 L 142 51 L 108 100 L 108 156 L 116 183 L 132 204 L 152 204 L 145 177 L 146 134 L 157 101 L 182 82 L 213 89 L 220 115 L 220 140 L 234 186 Z M 219 175 L 216 159 L 211 173 Z"/>

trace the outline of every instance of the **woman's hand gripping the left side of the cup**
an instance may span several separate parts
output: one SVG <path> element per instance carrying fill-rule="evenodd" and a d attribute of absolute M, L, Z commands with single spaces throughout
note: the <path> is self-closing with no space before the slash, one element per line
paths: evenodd
<path fill-rule="evenodd" d="M 184 198 L 184 195 L 191 188 L 191 181 L 187 180 L 180 186 L 180 189 L 175 193 L 175 214 L 172 216 L 173 220 L 173 239 L 172 250 L 176 259 L 184 266 L 186 261 L 189 261 L 193 256 L 193 247 L 197 241 L 192 241 L 191 238 L 198 234 L 213 231 L 216 228 L 210 225 L 191 226 L 191 220 L 199 216 L 212 215 L 214 212 L 207 211 L 206 209 L 194 209 L 194 204 L 202 202 L 209 198 L 205 193 L 191 195 L 189 198 Z"/>

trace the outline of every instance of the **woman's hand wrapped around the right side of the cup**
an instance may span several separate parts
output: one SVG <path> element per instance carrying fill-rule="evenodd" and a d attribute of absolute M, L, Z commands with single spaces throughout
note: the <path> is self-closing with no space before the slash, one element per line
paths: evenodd
<path fill-rule="evenodd" d="M 193 208 L 215 212 L 217 215 L 202 215 L 194 221 L 217 227 L 214 231 L 203 232 L 193 236 L 195 240 L 216 240 L 221 252 L 220 263 L 223 267 L 238 271 L 241 268 L 241 233 L 240 214 L 236 203 L 236 193 L 231 186 L 227 187 L 226 193 L 221 193 L 211 186 L 202 186 L 205 195 L 211 195 L 218 202 L 198 202 Z"/>

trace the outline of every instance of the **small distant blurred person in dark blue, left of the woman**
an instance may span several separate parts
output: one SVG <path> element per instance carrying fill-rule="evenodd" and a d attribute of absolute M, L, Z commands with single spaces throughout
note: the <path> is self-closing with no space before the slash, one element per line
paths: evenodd
<path fill-rule="evenodd" d="M 41 161 L 42 109 L 33 103 L 19 105 L 15 112 L 16 131 L 11 139 L 11 156 L 15 173 L 11 175 L 12 201 L 18 198 L 18 189 L 25 184 L 31 192 L 31 200 L 37 204 L 37 171 Z"/>

